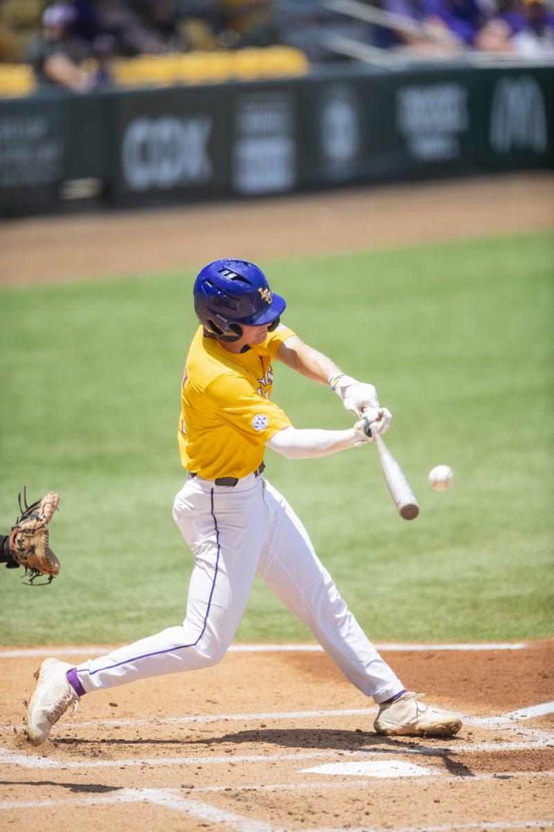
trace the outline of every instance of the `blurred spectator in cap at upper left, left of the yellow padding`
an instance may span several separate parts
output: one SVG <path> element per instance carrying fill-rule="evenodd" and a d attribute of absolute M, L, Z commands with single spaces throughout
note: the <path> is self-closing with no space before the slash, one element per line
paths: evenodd
<path fill-rule="evenodd" d="M 32 41 L 28 56 L 39 87 L 66 87 L 74 92 L 91 88 L 91 76 L 79 66 L 88 50 L 74 35 L 76 14 L 71 3 L 57 2 L 42 15 L 42 32 Z"/>

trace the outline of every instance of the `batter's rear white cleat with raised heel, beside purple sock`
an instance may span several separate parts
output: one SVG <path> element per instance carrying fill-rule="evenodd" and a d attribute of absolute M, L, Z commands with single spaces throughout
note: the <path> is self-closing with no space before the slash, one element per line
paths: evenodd
<path fill-rule="evenodd" d="M 73 665 L 59 659 L 45 659 L 35 673 L 37 687 L 27 705 L 25 731 L 33 745 L 41 745 L 62 714 L 71 706 L 73 716 L 80 697 L 66 678 Z"/>

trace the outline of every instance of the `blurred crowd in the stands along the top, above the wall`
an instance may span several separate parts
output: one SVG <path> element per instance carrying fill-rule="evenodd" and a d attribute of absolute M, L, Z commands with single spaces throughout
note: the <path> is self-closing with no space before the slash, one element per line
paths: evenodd
<path fill-rule="evenodd" d="M 115 57 L 284 44 L 314 63 L 344 60 L 329 46 L 330 34 L 424 59 L 471 50 L 554 57 L 546 0 L 359 0 L 363 5 L 380 18 L 345 16 L 325 0 L 0 0 L 0 60 L 30 63 L 39 86 L 84 91 L 110 84 Z"/>

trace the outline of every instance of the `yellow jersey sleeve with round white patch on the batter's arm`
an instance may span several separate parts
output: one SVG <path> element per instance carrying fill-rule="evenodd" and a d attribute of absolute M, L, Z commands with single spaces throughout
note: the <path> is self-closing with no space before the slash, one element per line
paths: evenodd
<path fill-rule="evenodd" d="M 225 373 L 204 390 L 213 414 L 252 446 L 265 445 L 278 431 L 291 427 L 284 410 L 270 399 L 262 399 L 248 379 Z"/>

